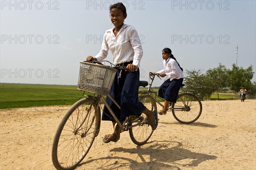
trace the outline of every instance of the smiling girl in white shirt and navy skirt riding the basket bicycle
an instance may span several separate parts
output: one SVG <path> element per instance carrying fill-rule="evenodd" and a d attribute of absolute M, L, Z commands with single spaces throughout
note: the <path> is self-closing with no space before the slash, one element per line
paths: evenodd
<path fill-rule="evenodd" d="M 130 114 L 140 116 L 141 113 L 145 113 L 152 130 L 154 130 L 158 124 L 156 111 L 149 111 L 143 103 L 138 101 L 139 66 L 143 56 L 142 45 L 136 29 L 124 23 L 126 17 L 126 8 L 122 3 L 115 3 L 110 7 L 110 19 L 114 27 L 105 32 L 99 54 L 95 57 L 88 56 L 86 60 L 102 61 L 110 50 L 115 65 L 123 65 L 130 69 L 130 71 L 117 71 L 109 92 L 121 109 L 109 97 L 106 98 L 106 101 L 120 121 L 124 121 L 125 117 Z M 106 106 L 102 111 L 102 120 L 112 121 L 113 127 L 116 124 Z M 109 143 L 116 142 L 118 139 L 119 136 L 116 133 L 111 133 L 105 135 L 102 140 L 104 143 Z"/>

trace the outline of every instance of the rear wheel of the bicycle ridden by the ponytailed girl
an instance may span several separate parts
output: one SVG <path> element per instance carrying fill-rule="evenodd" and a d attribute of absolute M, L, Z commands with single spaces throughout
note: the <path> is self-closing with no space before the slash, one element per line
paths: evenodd
<path fill-rule="evenodd" d="M 184 93 L 172 103 L 172 114 L 180 123 L 195 122 L 202 113 L 202 103 L 194 94 Z"/>

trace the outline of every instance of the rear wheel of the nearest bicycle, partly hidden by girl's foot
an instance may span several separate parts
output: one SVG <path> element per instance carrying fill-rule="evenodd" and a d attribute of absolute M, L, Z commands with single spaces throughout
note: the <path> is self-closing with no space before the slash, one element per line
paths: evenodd
<path fill-rule="evenodd" d="M 157 111 L 157 105 L 155 103 L 155 100 L 150 95 L 143 95 L 139 97 L 139 101 L 143 103 L 143 105 L 148 108 L 150 111 Z M 147 120 L 147 116 L 142 113 L 141 116 L 139 116 L 137 119 L 132 118 L 130 116 L 129 119 L 129 125 L 136 123 L 142 123 Z M 147 121 L 148 122 L 148 121 Z M 131 137 L 131 141 L 134 142 L 134 144 L 142 145 L 145 144 L 148 139 L 151 137 L 154 130 L 151 129 L 151 126 L 148 123 L 142 123 L 141 125 L 134 126 L 129 128 L 129 135 Z"/>

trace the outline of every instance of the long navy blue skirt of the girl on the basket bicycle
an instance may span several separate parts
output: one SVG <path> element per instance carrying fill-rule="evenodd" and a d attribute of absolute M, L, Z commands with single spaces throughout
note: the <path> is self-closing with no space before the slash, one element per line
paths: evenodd
<path fill-rule="evenodd" d="M 113 84 L 109 94 L 116 100 L 121 106 L 119 109 L 116 104 L 109 98 L 106 97 L 108 105 L 115 113 L 116 117 L 120 121 L 124 121 L 126 116 L 138 115 L 140 116 L 145 111 L 143 103 L 138 102 L 138 90 L 140 81 L 140 70 L 137 71 L 122 71 L 121 77 L 119 77 L 120 70 L 116 72 Z M 109 120 L 115 122 L 108 108 L 104 106 L 102 112 L 102 120 Z"/>

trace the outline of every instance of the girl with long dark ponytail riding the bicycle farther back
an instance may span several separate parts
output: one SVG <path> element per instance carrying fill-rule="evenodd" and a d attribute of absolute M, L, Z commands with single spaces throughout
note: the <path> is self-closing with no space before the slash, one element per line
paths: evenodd
<path fill-rule="evenodd" d="M 158 90 L 158 96 L 165 99 L 163 109 L 158 111 L 160 115 L 166 115 L 170 102 L 176 102 L 180 87 L 183 82 L 183 68 L 172 55 L 170 48 L 164 48 L 162 51 L 163 70 L 158 71 L 160 77 L 166 77 Z"/>

